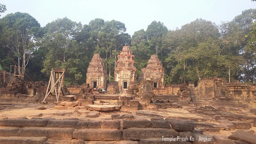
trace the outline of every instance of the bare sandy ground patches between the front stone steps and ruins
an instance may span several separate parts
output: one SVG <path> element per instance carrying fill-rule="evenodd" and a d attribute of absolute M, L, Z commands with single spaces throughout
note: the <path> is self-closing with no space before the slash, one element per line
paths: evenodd
<path fill-rule="evenodd" d="M 46 109 L 38 110 L 38 106 L 44 106 Z M 16 119 L 16 118 L 33 118 L 33 117 L 40 117 L 40 118 L 55 118 L 55 119 L 64 119 L 64 118 L 86 118 L 90 120 L 102 120 L 104 118 L 111 118 L 113 114 L 128 114 L 122 111 L 114 111 L 114 112 L 100 112 L 99 117 L 97 118 L 88 118 L 86 114 L 90 112 L 90 110 L 86 109 L 79 109 L 78 111 L 82 113 L 81 115 L 72 114 L 75 109 L 72 110 L 56 110 L 54 109 L 55 105 L 39 105 L 39 104 L 16 104 L 15 106 L 6 106 L 6 108 L 0 110 L 0 119 L 8 118 L 8 119 Z M 3 106 L 1 106 L 3 108 Z M 5 106 L 4 106 L 5 107 Z M 207 117 L 206 115 L 189 112 L 189 109 L 193 109 L 193 107 L 183 107 L 183 108 L 167 108 L 167 109 L 160 109 L 157 111 L 151 111 L 152 113 L 162 115 L 164 118 L 175 118 L 175 117 L 185 117 L 185 118 L 204 118 Z M 235 107 L 232 110 L 232 113 L 236 114 L 245 114 L 247 115 L 248 109 L 237 108 Z M 136 111 L 131 111 L 136 119 L 148 119 L 150 120 L 152 117 L 147 116 L 139 116 L 136 115 Z M 230 112 L 230 111 L 229 111 Z M 253 115 L 248 115 L 253 116 Z M 256 116 L 256 115 L 254 115 Z M 205 135 L 225 135 L 229 136 L 235 130 L 220 130 L 220 132 L 204 132 Z M 256 132 L 256 127 L 252 127 L 251 129 L 246 129 L 245 131 L 253 130 Z"/>

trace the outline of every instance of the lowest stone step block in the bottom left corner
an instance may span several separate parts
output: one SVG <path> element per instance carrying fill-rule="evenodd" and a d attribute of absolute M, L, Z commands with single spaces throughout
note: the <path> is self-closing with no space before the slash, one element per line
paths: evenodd
<path fill-rule="evenodd" d="M 47 140 L 46 137 L 0 137 L 0 144 L 14 144 L 14 143 L 26 143 L 26 144 L 42 144 Z"/>

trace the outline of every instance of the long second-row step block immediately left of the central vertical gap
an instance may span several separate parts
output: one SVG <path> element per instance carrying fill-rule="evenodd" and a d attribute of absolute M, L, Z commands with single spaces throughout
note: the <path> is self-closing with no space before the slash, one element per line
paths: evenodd
<path fill-rule="evenodd" d="M 73 138 L 78 140 L 99 140 L 99 141 L 119 141 L 122 130 L 113 129 L 77 129 Z"/>

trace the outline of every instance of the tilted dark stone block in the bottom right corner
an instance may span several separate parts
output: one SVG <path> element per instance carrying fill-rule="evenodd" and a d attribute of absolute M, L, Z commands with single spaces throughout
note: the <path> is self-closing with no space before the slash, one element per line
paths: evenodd
<path fill-rule="evenodd" d="M 246 143 L 256 144 L 256 135 L 250 132 L 242 131 L 242 130 L 237 130 L 228 138 L 232 140 L 240 140 Z"/>

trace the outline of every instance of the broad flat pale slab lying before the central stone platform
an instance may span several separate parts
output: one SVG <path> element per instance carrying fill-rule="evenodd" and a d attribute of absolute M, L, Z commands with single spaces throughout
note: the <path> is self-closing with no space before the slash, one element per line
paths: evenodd
<path fill-rule="evenodd" d="M 96 111 L 113 111 L 113 110 L 120 110 L 121 106 L 115 105 L 87 105 L 85 106 L 86 109 L 89 110 L 96 110 Z"/>

